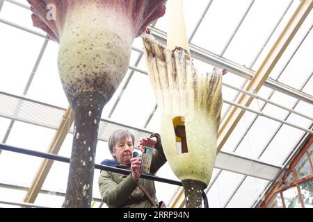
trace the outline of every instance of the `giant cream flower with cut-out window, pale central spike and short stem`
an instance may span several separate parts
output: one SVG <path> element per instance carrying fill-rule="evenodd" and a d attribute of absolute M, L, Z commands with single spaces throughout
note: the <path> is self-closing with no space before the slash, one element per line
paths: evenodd
<path fill-rule="evenodd" d="M 150 82 L 161 109 L 160 135 L 166 158 L 182 180 L 186 207 L 201 207 L 202 191 L 209 184 L 216 159 L 223 71 L 199 73 L 195 69 L 179 9 L 182 1 L 168 1 L 168 47 L 150 34 L 141 37 Z"/>

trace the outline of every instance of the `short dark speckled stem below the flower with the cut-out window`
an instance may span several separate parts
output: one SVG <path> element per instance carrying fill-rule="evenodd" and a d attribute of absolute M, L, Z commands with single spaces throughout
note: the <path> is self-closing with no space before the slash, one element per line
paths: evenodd
<path fill-rule="evenodd" d="M 186 208 L 202 207 L 202 192 L 207 187 L 198 180 L 182 180 L 185 191 Z"/>

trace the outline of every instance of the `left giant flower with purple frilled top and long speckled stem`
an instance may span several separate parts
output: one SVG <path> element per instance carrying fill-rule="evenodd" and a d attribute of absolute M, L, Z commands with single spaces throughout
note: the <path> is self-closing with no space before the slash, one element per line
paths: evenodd
<path fill-rule="evenodd" d="M 65 207 L 90 207 L 99 121 L 129 65 L 131 44 L 165 0 L 28 0 L 34 26 L 60 43 L 58 71 L 74 110 Z"/>

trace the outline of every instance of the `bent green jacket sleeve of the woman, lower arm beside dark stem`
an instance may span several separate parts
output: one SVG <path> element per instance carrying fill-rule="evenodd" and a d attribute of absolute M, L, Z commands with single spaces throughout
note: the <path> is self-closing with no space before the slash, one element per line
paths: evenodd
<path fill-rule="evenodd" d="M 138 182 L 134 181 L 131 174 L 117 184 L 113 181 L 112 173 L 108 171 L 100 173 L 98 184 L 102 200 L 112 207 L 122 206 L 138 186 Z"/>

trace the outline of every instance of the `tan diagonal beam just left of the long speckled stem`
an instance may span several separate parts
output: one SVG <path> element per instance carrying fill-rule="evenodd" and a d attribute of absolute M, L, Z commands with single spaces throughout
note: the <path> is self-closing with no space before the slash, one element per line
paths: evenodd
<path fill-rule="evenodd" d="M 60 151 L 60 148 L 64 142 L 67 132 L 70 130 L 70 127 L 72 126 L 73 121 L 74 121 L 74 111 L 72 110 L 72 108 L 67 108 L 63 121 L 61 122 L 61 125 L 58 128 L 58 131 L 56 132 L 56 135 L 54 136 L 54 139 L 52 140 L 47 153 L 57 154 L 58 151 Z M 42 160 L 42 162 L 40 163 L 40 167 L 35 175 L 35 178 L 31 183 L 29 191 L 27 191 L 26 196 L 24 198 L 25 203 L 35 202 L 35 199 L 37 198 L 40 189 L 42 188 L 42 185 L 45 182 L 45 179 L 47 178 L 47 175 L 52 167 L 53 162 L 54 162 L 53 160 L 47 159 Z"/>

